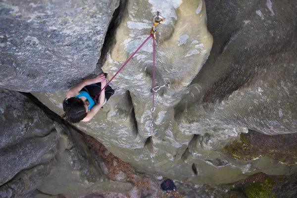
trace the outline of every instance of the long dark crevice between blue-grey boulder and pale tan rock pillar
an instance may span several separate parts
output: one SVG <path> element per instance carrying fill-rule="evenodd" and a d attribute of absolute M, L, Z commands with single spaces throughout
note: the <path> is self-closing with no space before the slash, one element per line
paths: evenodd
<path fill-rule="evenodd" d="M 127 2 L 128 0 L 120 0 L 119 6 L 113 12 L 112 19 L 110 21 L 110 24 L 108 26 L 108 29 L 104 38 L 104 43 L 102 45 L 100 57 L 97 62 L 97 69 L 100 69 L 103 66 L 109 49 L 115 44 L 114 37 L 115 37 L 116 29 L 121 23 L 123 13 L 126 10 Z"/>

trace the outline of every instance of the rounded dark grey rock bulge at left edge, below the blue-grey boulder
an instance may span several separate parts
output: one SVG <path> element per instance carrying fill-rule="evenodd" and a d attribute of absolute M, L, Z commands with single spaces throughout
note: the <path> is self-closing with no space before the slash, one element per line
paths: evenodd
<path fill-rule="evenodd" d="M 57 150 L 53 122 L 22 94 L 0 89 L 0 185 Z"/>

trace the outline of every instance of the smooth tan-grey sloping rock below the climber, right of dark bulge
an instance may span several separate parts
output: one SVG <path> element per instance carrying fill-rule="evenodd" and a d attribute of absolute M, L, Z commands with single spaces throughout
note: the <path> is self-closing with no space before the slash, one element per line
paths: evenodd
<path fill-rule="evenodd" d="M 71 127 L 55 123 L 59 139 L 59 152 L 55 168 L 38 188 L 49 195 L 62 194 L 67 198 L 77 198 L 88 192 L 96 182 L 108 181 L 96 164 L 91 151 L 80 134 Z"/>

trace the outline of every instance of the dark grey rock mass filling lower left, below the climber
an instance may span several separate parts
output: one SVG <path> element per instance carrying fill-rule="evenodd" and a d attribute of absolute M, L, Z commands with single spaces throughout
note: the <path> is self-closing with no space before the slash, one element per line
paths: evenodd
<path fill-rule="evenodd" d="M 133 186 L 110 182 L 84 138 L 52 121 L 30 99 L 0 89 L 0 197 L 44 195 L 78 198 L 98 191 L 122 193 Z"/>

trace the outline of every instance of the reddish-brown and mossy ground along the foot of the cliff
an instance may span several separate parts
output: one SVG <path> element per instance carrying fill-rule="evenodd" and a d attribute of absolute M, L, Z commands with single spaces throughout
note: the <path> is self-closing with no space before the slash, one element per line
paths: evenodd
<path fill-rule="evenodd" d="M 246 135 L 246 134 L 244 134 Z M 248 135 L 248 134 L 247 134 Z M 293 134 L 292 134 L 293 135 Z M 95 138 L 83 134 L 88 142 L 88 147 L 93 150 L 96 157 L 100 157 L 102 163 L 108 167 L 108 176 L 115 179 L 115 172 L 127 174 L 128 182 L 132 182 L 135 187 L 127 189 L 125 193 L 114 192 L 93 192 L 82 198 L 246 198 L 246 197 L 296 197 L 297 174 L 291 176 L 271 176 L 264 173 L 254 174 L 245 180 L 227 185 L 195 185 L 189 184 L 186 180 L 174 180 L 178 193 L 168 192 L 166 194 L 160 189 L 160 184 L 166 178 L 159 178 L 154 174 L 149 174 L 143 170 L 137 170 L 126 162 L 123 162 L 112 153 L 106 156 L 106 148 Z M 112 160 L 116 158 L 118 166 L 112 165 Z M 275 196 L 274 196 L 275 195 Z"/>

